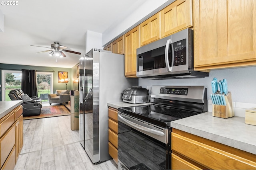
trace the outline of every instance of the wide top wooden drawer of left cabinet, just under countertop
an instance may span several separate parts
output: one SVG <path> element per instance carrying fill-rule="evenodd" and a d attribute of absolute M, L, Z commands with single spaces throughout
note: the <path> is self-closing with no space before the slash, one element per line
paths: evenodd
<path fill-rule="evenodd" d="M 0 119 L 0 136 L 2 136 L 9 129 L 9 127 L 12 126 L 14 119 L 14 111 L 11 111 Z"/>

